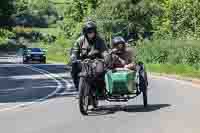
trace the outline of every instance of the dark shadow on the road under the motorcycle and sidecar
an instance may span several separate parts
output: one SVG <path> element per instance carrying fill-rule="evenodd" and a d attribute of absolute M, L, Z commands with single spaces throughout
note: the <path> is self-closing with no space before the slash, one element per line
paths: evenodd
<path fill-rule="evenodd" d="M 92 110 L 89 113 L 89 116 L 98 116 L 98 115 L 109 115 L 116 112 L 153 112 L 171 106 L 170 104 L 150 104 L 148 107 L 144 108 L 143 105 L 107 105 L 100 106 L 98 109 Z"/>

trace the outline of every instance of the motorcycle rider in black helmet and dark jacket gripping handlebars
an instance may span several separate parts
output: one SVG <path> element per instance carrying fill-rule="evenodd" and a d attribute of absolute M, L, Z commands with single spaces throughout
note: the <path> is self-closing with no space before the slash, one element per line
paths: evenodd
<path fill-rule="evenodd" d="M 79 73 L 81 72 L 81 65 L 77 60 L 84 60 L 87 57 L 104 58 L 106 53 L 106 44 L 98 35 L 96 24 L 93 21 L 86 22 L 83 27 L 83 35 L 77 39 L 71 50 L 71 75 L 77 91 L 79 86 Z M 98 69 L 99 71 L 103 71 L 101 66 Z"/>

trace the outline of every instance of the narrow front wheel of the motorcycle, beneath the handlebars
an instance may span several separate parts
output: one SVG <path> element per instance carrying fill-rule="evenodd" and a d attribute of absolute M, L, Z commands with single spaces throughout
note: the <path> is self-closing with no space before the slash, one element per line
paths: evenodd
<path fill-rule="evenodd" d="M 84 77 L 80 78 L 79 83 L 79 109 L 81 114 L 88 115 L 89 106 L 89 85 Z"/>

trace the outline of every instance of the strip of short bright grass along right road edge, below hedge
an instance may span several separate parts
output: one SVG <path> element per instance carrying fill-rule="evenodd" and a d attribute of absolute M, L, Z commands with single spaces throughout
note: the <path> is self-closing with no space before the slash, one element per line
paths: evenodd
<path fill-rule="evenodd" d="M 184 77 L 200 78 L 200 69 L 195 69 L 189 65 L 183 64 L 147 64 L 147 70 L 150 72 L 176 74 Z"/>

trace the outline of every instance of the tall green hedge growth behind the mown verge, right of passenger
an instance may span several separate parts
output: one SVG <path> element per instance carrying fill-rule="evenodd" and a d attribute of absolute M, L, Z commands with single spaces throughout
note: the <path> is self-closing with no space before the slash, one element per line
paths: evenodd
<path fill-rule="evenodd" d="M 188 64 L 198 67 L 200 45 L 198 41 L 154 40 L 137 46 L 138 60 L 146 63 Z"/>

